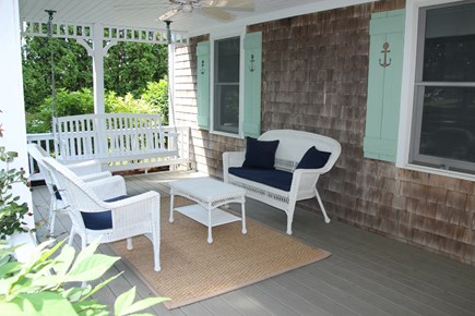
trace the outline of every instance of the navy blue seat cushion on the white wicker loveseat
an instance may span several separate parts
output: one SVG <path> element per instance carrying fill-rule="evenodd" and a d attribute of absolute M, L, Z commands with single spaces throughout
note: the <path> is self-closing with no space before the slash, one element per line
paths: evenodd
<path fill-rule="evenodd" d="M 257 169 L 248 167 L 231 167 L 228 169 L 230 174 L 256 181 L 283 191 L 290 191 L 292 172 L 271 169 Z"/>

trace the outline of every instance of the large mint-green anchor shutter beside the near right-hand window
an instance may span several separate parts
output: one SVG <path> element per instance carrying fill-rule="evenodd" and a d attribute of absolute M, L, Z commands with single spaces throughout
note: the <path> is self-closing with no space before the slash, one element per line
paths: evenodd
<path fill-rule="evenodd" d="M 375 13 L 369 26 L 365 157 L 394 162 L 401 102 L 404 10 Z"/>

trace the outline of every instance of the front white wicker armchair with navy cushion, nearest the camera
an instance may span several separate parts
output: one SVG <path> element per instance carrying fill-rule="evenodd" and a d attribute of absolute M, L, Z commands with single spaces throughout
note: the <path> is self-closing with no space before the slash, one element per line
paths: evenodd
<path fill-rule="evenodd" d="M 79 234 L 83 248 L 102 236 L 102 243 L 127 239 L 127 248 L 132 250 L 132 236 L 145 234 L 153 244 L 154 269 L 161 270 L 161 196 L 157 192 L 128 197 L 122 177 L 85 183 L 54 158 L 44 158 L 43 161 L 51 170 L 61 195 L 69 204 L 72 220 L 70 244 Z"/>

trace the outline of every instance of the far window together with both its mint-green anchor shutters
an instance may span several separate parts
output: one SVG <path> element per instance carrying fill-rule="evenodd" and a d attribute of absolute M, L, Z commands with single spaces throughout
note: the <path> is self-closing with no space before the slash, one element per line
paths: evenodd
<path fill-rule="evenodd" d="M 261 78 L 261 32 L 198 42 L 198 126 L 226 136 L 259 137 Z"/>

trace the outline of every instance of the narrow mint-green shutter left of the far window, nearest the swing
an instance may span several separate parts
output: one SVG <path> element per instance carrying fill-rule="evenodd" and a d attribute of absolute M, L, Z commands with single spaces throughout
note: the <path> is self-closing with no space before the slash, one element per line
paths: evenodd
<path fill-rule="evenodd" d="M 210 41 L 197 47 L 197 89 L 198 126 L 210 130 Z"/>

